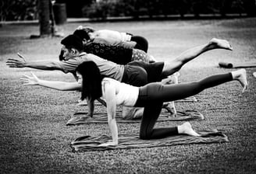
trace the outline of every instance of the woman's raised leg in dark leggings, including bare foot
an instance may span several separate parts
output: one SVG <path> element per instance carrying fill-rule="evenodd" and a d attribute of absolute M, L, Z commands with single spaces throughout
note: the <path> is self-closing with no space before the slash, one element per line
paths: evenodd
<path fill-rule="evenodd" d="M 141 96 L 137 101 L 137 106 L 144 106 L 144 103 L 154 101 L 175 101 L 177 99 L 194 96 L 204 89 L 212 88 L 216 85 L 221 85 L 225 82 L 237 80 L 244 89 L 247 89 L 246 71 L 240 69 L 231 73 L 211 75 L 197 82 L 179 83 L 173 85 L 162 85 L 160 83 L 151 83 L 141 87 Z M 144 97 L 145 96 L 145 97 Z"/>

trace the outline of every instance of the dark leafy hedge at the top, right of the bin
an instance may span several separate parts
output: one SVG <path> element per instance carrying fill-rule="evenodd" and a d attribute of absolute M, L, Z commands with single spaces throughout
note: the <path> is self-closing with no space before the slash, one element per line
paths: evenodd
<path fill-rule="evenodd" d="M 247 13 L 256 15 L 254 0 L 101 0 L 84 7 L 84 17 L 103 18 L 108 16 L 168 16 L 194 14 Z"/>

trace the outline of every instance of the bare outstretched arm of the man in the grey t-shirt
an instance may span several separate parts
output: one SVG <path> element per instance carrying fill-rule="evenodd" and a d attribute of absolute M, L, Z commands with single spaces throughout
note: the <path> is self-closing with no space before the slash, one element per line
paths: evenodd
<path fill-rule="evenodd" d="M 35 68 L 41 70 L 62 70 L 58 61 L 26 61 L 23 55 L 18 53 L 20 59 L 9 58 L 6 65 L 9 68 Z"/>

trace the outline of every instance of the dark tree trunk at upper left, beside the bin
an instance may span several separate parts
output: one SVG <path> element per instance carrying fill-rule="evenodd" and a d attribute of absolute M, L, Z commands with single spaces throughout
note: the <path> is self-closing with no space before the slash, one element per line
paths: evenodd
<path fill-rule="evenodd" d="M 40 37 L 49 37 L 52 34 L 49 3 L 50 0 L 38 0 Z"/>

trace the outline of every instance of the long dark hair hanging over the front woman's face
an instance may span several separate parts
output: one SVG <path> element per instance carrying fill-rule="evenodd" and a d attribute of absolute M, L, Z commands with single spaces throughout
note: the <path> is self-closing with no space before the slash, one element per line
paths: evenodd
<path fill-rule="evenodd" d="M 82 75 L 82 97 L 81 99 L 98 99 L 102 96 L 101 81 L 103 76 L 94 61 L 84 61 L 76 71 Z"/>

